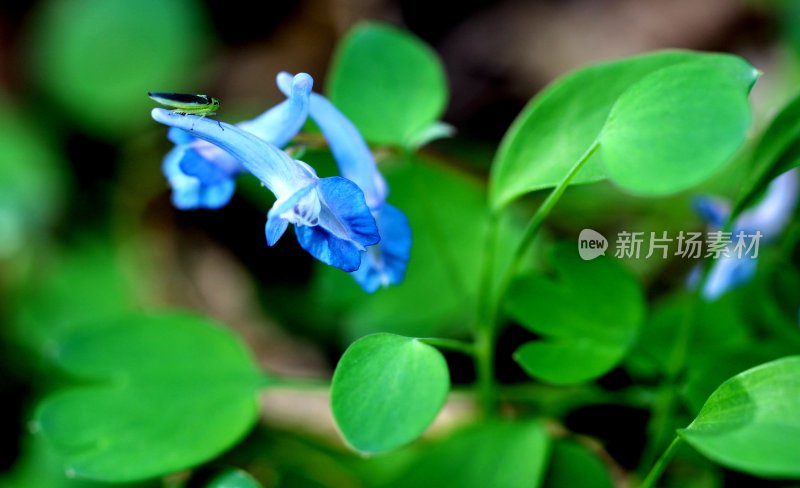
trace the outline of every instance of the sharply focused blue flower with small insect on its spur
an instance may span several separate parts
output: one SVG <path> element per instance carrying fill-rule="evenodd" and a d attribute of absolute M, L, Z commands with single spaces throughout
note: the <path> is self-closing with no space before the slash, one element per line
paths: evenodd
<path fill-rule="evenodd" d="M 269 245 L 291 223 L 300 245 L 312 256 L 352 272 L 359 268 L 366 247 L 380 241 L 364 194 L 352 181 L 320 179 L 307 164 L 239 127 L 160 108 L 153 109 L 152 116 L 226 151 L 275 194 L 265 227 Z"/>

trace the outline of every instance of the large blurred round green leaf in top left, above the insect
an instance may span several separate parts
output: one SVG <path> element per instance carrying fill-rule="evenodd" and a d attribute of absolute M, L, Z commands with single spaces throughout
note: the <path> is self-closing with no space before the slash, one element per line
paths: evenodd
<path fill-rule="evenodd" d="M 49 0 L 31 27 L 36 81 L 91 133 L 121 137 L 148 123 L 148 91 L 200 91 L 208 40 L 194 1 Z"/>

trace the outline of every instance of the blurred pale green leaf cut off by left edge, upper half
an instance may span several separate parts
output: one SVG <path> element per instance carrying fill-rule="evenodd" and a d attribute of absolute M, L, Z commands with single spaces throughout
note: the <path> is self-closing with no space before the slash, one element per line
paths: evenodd
<path fill-rule="evenodd" d="M 0 99 L 0 259 L 29 247 L 62 210 L 65 162 L 30 120 Z"/>

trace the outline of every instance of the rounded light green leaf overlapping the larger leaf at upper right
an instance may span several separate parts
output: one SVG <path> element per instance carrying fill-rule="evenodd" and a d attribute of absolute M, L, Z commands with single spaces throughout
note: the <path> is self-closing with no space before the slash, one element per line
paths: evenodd
<path fill-rule="evenodd" d="M 742 70 L 757 71 L 742 63 Z M 685 190 L 716 172 L 744 144 L 749 85 L 730 70 L 684 63 L 623 93 L 598 140 L 606 173 L 637 194 Z"/>

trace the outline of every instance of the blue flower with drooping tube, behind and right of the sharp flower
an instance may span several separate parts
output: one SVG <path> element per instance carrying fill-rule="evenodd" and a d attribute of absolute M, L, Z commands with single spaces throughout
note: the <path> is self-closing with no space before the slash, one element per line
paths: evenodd
<path fill-rule="evenodd" d="M 293 79 L 289 73 L 278 75 L 278 87 L 285 95 L 291 93 Z M 358 129 L 327 98 L 311 93 L 309 114 L 325 136 L 339 172 L 364 192 L 381 233 L 380 244 L 362 254 L 353 278 L 370 293 L 400 283 L 411 252 L 411 228 L 403 212 L 386 203 L 388 187 L 372 152 Z"/>

